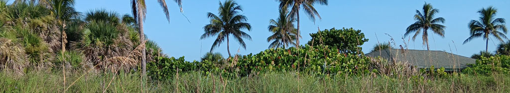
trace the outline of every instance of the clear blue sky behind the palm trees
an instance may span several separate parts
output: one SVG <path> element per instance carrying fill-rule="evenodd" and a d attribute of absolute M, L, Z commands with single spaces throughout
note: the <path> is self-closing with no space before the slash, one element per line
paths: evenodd
<path fill-rule="evenodd" d="M 207 12 L 217 14 L 219 1 L 214 0 L 183 0 L 184 15 L 179 11 L 179 7 L 172 0 L 167 0 L 170 10 L 170 23 L 165 19 L 165 14 L 156 0 L 146 0 L 147 19 L 144 23 L 144 30 L 147 37 L 156 41 L 164 53 L 169 56 L 186 56 L 186 60 L 199 60 L 200 57 L 209 52 L 214 37 L 200 40 L 203 34 L 203 26 L 209 23 L 206 16 Z M 222 1 L 223 2 L 223 1 Z M 360 29 L 369 39 L 362 47 L 365 53 L 368 53 L 372 46 L 377 42 L 388 42 L 391 35 L 398 45 L 403 44 L 401 39 L 405 33 L 405 28 L 414 23 L 414 14 L 417 9 L 421 9 L 425 1 L 350 1 L 350 0 L 329 0 L 328 6 L 315 6 L 322 20 L 315 23 L 308 19 L 308 16 L 301 14 L 301 44 L 306 44 L 311 37 L 310 33 L 317 32 L 317 26 L 323 29 L 350 28 Z M 474 1 L 474 0 L 437 0 L 426 1 L 431 3 L 434 8 L 440 10 L 436 17 L 446 19 L 445 38 L 438 35 L 429 35 L 431 50 L 442 50 L 453 52 L 463 56 L 471 56 L 473 53 L 485 49 L 485 42 L 480 38 L 467 44 L 462 44 L 469 37 L 468 22 L 472 19 L 478 19 L 476 13 L 481 8 L 494 6 L 498 9 L 497 18 L 506 18 L 510 22 L 510 1 Z M 278 16 L 278 3 L 273 0 L 237 0 L 237 3 L 243 7 L 245 16 L 251 23 L 252 30 L 247 34 L 252 37 L 252 41 L 246 40 L 246 50 L 239 49 L 236 41 L 231 41 L 232 54 L 259 53 L 267 49 L 269 43 L 266 38 L 271 35 L 267 26 L 269 19 L 275 19 Z M 77 0 L 78 11 L 86 12 L 92 9 L 104 8 L 116 11 L 120 14 L 131 14 L 130 2 L 128 0 Z M 421 10 L 420 10 L 421 11 Z M 302 13 L 302 12 L 301 12 Z M 507 26 L 510 26 L 507 24 Z M 421 36 L 421 35 L 420 35 Z M 407 42 L 409 38 L 405 38 Z M 494 51 L 498 41 L 489 41 L 489 51 Z M 416 41 L 409 41 L 410 49 L 426 49 L 422 45 L 421 37 Z M 239 52 L 238 52 L 239 49 Z M 451 49 L 451 51 L 450 51 Z M 214 52 L 220 52 L 223 56 L 228 56 L 226 52 L 226 43 L 221 44 Z"/>

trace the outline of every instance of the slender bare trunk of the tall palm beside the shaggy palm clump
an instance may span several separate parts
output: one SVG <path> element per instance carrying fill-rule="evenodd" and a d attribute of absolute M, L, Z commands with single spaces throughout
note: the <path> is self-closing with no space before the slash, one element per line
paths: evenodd
<path fill-rule="evenodd" d="M 141 13 L 141 12 L 139 12 Z M 140 14 L 138 14 L 140 15 Z M 145 41 L 145 35 L 143 33 L 143 17 L 138 16 L 138 25 L 140 28 L 140 43 L 143 43 Z M 145 47 L 142 48 L 142 78 L 145 78 L 147 75 L 147 68 L 146 68 L 146 55 L 145 55 Z M 143 82 L 143 80 L 142 80 Z"/>

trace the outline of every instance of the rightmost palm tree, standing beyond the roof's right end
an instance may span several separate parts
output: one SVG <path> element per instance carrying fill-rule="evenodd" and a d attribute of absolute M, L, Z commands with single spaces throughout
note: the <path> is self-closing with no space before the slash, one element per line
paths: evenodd
<path fill-rule="evenodd" d="M 480 19 L 471 20 L 468 23 L 469 26 L 469 34 L 471 37 L 466 39 L 463 44 L 475 39 L 475 38 L 483 38 L 486 40 L 485 51 L 489 50 L 489 36 L 494 36 L 494 38 L 503 42 L 502 38 L 506 38 L 505 34 L 507 32 L 505 26 L 505 19 L 503 18 L 494 18 L 496 17 L 497 10 L 495 8 L 488 7 L 486 9 L 481 9 L 478 11 L 480 13 Z M 503 33 L 501 33 L 502 31 Z"/>

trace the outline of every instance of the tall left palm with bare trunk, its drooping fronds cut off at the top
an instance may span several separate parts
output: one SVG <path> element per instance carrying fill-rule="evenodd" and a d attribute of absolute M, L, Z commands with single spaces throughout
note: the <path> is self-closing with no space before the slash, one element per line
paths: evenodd
<path fill-rule="evenodd" d="M 181 8 L 181 12 L 183 12 L 182 8 L 182 0 L 173 0 L 179 7 Z M 140 41 L 145 41 L 145 34 L 143 33 L 143 20 L 145 19 L 145 14 L 147 14 L 147 6 L 145 6 L 145 0 L 131 0 L 131 9 L 133 11 L 133 16 L 138 21 L 138 28 L 140 32 Z M 168 6 L 166 5 L 165 0 L 158 0 L 161 8 L 163 8 L 163 12 L 166 15 L 166 19 L 170 22 L 170 12 L 168 11 Z M 146 74 L 146 55 L 145 55 L 145 47 L 142 49 L 142 76 L 145 77 Z"/>

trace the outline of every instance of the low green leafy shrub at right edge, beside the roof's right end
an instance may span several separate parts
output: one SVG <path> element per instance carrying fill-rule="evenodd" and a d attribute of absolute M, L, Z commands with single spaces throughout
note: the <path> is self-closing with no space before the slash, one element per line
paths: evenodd
<path fill-rule="evenodd" d="M 476 64 L 470 64 L 463 70 L 467 74 L 490 75 L 491 73 L 510 72 L 510 56 L 496 55 L 491 57 L 482 57 L 476 60 Z"/>

